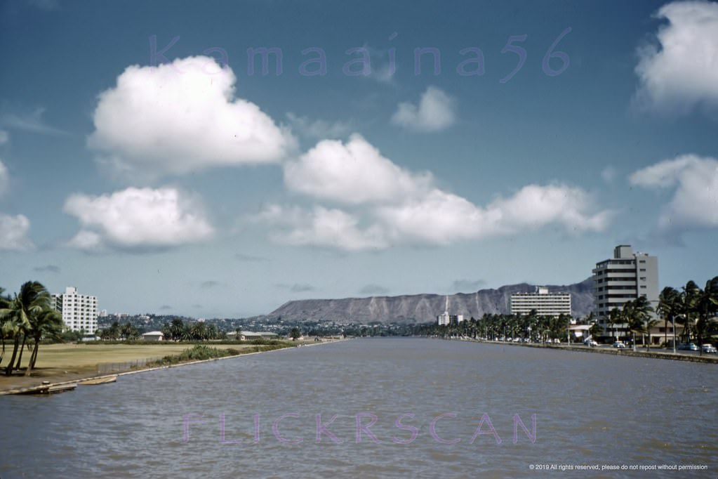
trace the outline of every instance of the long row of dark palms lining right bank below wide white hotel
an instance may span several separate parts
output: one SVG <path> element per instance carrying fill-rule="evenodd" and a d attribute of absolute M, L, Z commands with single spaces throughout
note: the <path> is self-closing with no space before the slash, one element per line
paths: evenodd
<path fill-rule="evenodd" d="M 591 316 L 592 317 L 592 316 Z M 479 320 L 471 318 L 448 325 L 419 325 L 414 334 L 441 338 L 482 338 L 503 340 L 521 338 L 543 342 L 549 339 L 567 338 L 568 315 L 544 316 L 532 310 L 528 315 L 492 315 L 486 313 Z M 587 318 L 589 320 L 589 318 Z"/>

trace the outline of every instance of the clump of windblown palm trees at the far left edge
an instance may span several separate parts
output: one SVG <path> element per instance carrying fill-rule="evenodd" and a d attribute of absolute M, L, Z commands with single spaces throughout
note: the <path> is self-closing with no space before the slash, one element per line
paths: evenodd
<path fill-rule="evenodd" d="M 24 283 L 14 296 L 4 295 L 3 292 L 4 289 L 0 288 L 0 364 L 5 358 L 5 342 L 9 340 L 12 353 L 5 366 L 6 376 L 19 370 L 26 348 L 30 351 L 30 359 L 25 376 L 29 376 L 37 362 L 40 340 L 61 340 L 62 315 L 52 308 L 50 293 L 39 282 Z"/>

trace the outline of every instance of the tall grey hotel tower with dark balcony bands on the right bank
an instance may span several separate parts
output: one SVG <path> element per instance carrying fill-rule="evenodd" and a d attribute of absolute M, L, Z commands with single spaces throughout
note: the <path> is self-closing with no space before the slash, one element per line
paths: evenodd
<path fill-rule="evenodd" d="M 593 269 L 593 294 L 596 316 L 605 327 L 610 311 L 640 296 L 658 306 L 658 258 L 645 253 L 633 253 L 630 245 L 613 249 L 613 258 L 605 259 Z"/>

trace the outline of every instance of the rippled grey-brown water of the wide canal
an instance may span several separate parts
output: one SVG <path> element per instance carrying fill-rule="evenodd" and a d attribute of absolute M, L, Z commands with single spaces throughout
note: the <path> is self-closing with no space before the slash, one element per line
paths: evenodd
<path fill-rule="evenodd" d="M 1 397 L 0 477 L 716 477 L 717 378 L 714 364 L 348 340 Z"/>

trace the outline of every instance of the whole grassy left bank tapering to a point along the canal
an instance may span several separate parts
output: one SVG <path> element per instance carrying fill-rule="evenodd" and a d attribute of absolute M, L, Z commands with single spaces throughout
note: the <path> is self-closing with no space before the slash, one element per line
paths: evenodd
<path fill-rule="evenodd" d="M 59 344 L 48 345 L 45 351 L 47 355 L 47 363 L 54 363 L 57 358 L 62 358 L 64 364 L 60 364 L 60 368 L 39 366 L 33 371 L 33 376 L 0 376 L 0 396 L 8 394 L 28 394 L 32 391 L 38 391 L 47 388 L 47 386 L 57 386 L 63 384 L 76 383 L 88 379 L 106 378 L 108 376 L 125 376 L 127 374 L 144 373 L 148 371 L 157 371 L 160 369 L 174 368 L 178 366 L 190 366 L 192 364 L 206 363 L 209 361 L 220 361 L 223 359 L 238 358 L 243 355 L 254 355 L 258 353 L 267 353 L 269 351 L 281 350 L 287 348 L 296 348 L 299 346 L 320 345 L 333 343 L 337 340 L 312 341 L 312 343 L 283 341 L 283 340 L 255 340 L 249 342 L 237 343 L 216 343 L 216 344 L 182 344 L 182 343 L 146 343 L 146 344 L 111 344 L 106 345 L 98 343 L 96 345 L 85 344 Z M 55 346 L 53 350 L 52 346 Z M 90 347 L 88 347 L 90 346 Z M 95 346 L 94 348 L 92 346 Z M 133 348 L 135 347 L 135 348 Z M 180 347 L 180 349 L 178 349 Z M 122 348 L 129 348 L 130 356 Z M 67 349 L 74 350 L 73 353 L 67 354 Z M 102 351 L 104 349 L 104 351 Z M 137 351 L 151 353 L 152 350 L 164 349 L 166 354 L 162 357 L 149 358 L 149 361 L 142 361 L 141 366 L 129 366 L 124 371 L 107 371 L 106 373 L 98 373 L 98 366 L 103 363 L 97 363 L 98 350 L 101 357 L 105 360 L 128 360 L 129 358 L 139 359 Z M 144 358 L 142 358 L 144 359 Z M 89 360 L 89 363 L 88 363 Z M 67 363 L 72 361 L 75 364 Z M 92 361 L 95 361 L 92 363 Z M 110 361 L 110 362 L 111 362 Z M 133 361 L 122 361 L 124 363 L 132 363 Z M 63 369 L 64 368 L 64 369 Z"/>

